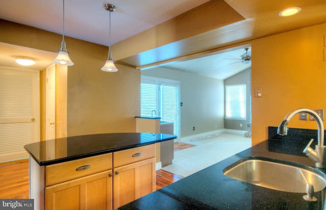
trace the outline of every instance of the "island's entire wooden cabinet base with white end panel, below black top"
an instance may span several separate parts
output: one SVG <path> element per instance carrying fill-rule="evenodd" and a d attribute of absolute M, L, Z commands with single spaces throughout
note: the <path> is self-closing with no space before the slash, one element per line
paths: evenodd
<path fill-rule="evenodd" d="M 155 191 L 155 145 L 48 166 L 33 161 L 30 172 L 35 209 L 115 209 Z"/>

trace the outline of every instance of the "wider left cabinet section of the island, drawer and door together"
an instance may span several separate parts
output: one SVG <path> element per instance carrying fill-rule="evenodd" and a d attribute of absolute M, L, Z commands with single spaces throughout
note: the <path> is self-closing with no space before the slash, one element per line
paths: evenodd
<path fill-rule="evenodd" d="M 112 153 L 45 167 L 45 209 L 112 209 Z"/>

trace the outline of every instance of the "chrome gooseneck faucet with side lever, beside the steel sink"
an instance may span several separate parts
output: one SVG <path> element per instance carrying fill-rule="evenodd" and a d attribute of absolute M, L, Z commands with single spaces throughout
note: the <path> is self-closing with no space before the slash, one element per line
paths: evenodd
<path fill-rule="evenodd" d="M 291 112 L 289 112 L 284 120 L 279 125 L 279 128 L 277 129 L 277 133 L 281 136 L 287 135 L 287 124 L 291 120 L 291 118 L 296 115 L 297 113 L 305 112 L 314 117 L 314 119 L 317 122 L 318 127 L 318 145 L 316 145 L 316 149 L 313 149 L 310 147 L 310 144 L 314 141 L 314 139 L 311 139 L 306 148 L 304 149 L 304 153 L 316 163 L 317 168 L 326 168 L 326 160 L 325 160 L 325 144 L 324 144 L 324 125 L 321 121 L 321 118 L 319 115 L 309 109 L 296 109 Z"/>

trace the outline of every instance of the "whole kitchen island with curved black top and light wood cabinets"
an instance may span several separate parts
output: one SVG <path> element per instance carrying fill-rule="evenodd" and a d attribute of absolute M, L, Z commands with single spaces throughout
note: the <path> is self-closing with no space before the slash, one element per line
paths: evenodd
<path fill-rule="evenodd" d="M 112 209 L 155 190 L 155 143 L 176 136 L 95 134 L 25 145 L 35 209 Z"/>

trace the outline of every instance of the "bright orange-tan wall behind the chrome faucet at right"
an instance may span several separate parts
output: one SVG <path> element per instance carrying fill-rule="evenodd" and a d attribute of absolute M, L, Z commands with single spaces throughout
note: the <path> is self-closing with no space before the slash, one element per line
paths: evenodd
<path fill-rule="evenodd" d="M 252 90 L 262 88 L 262 97 L 252 98 L 253 145 L 293 109 L 326 109 L 324 35 L 326 23 L 252 42 Z M 288 126 L 317 129 L 315 121 L 298 115 Z"/>

